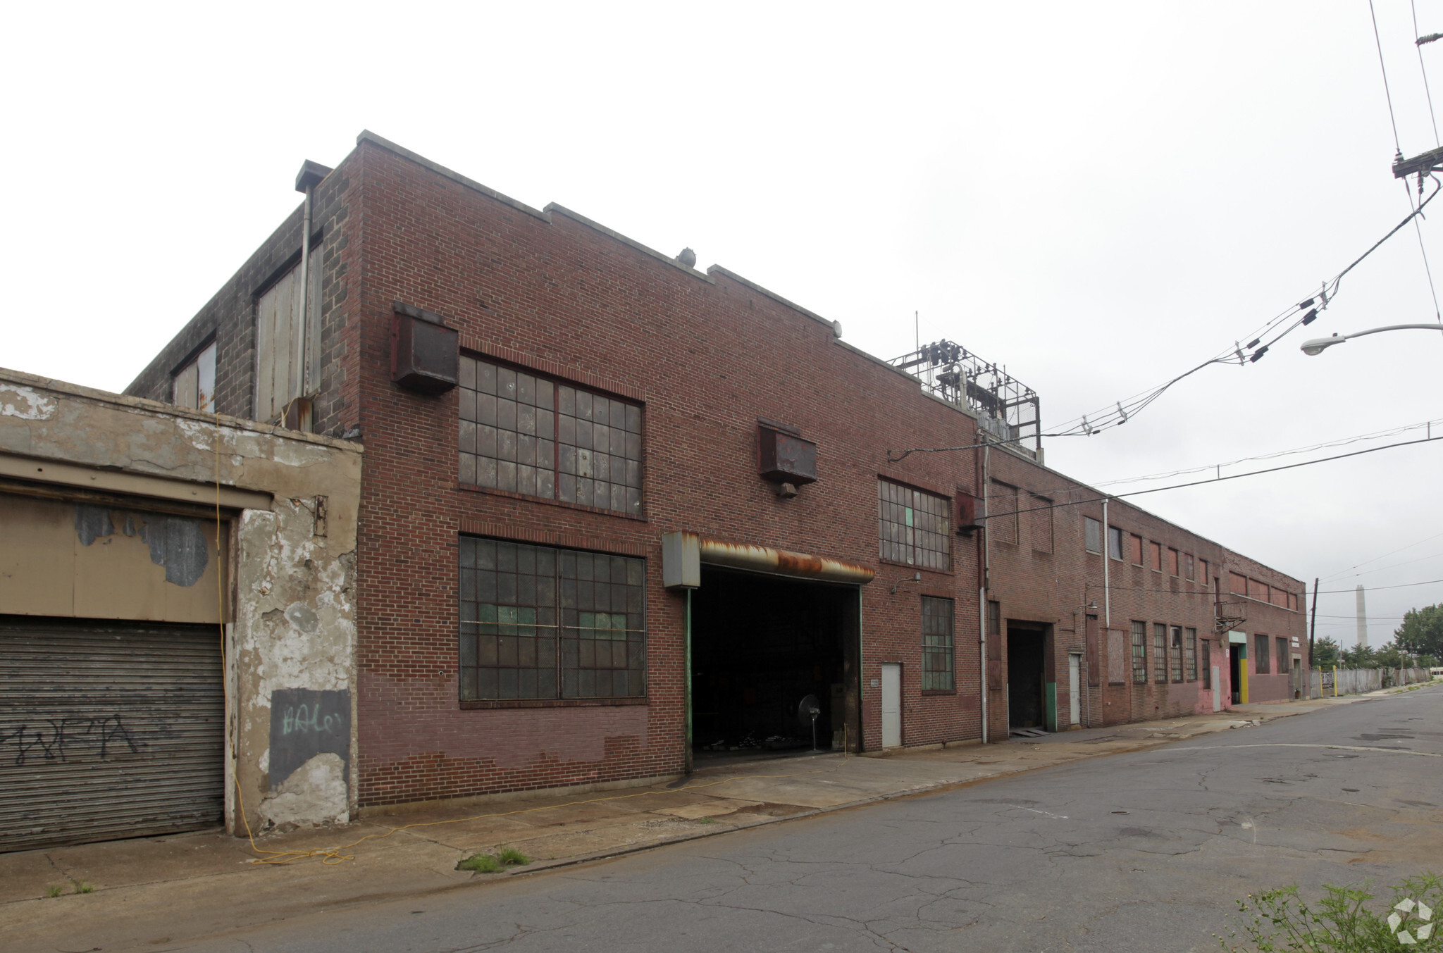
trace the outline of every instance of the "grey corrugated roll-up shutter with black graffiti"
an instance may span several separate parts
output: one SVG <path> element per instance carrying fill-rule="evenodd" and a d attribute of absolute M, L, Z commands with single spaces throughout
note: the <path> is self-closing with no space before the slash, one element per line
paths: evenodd
<path fill-rule="evenodd" d="M 0 851 L 211 828 L 215 626 L 0 616 Z"/>

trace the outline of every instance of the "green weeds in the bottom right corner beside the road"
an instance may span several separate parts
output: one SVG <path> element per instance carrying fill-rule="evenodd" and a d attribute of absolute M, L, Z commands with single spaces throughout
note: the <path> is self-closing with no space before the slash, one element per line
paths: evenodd
<path fill-rule="evenodd" d="M 1443 952 L 1443 878 L 1436 874 L 1410 877 L 1392 888 L 1392 903 L 1384 911 L 1368 905 L 1377 900 L 1361 887 L 1323 885 L 1316 905 L 1309 905 L 1296 885 L 1281 887 L 1238 901 L 1238 930 L 1218 937 L 1228 953 L 1378 953 L 1380 950 Z M 1440 911 L 1440 913 L 1434 913 Z"/>

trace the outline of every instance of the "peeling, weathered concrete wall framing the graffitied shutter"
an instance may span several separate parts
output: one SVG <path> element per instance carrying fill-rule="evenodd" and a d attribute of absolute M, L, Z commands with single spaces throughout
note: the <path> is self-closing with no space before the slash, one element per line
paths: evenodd
<path fill-rule="evenodd" d="M 216 585 L 212 568 L 201 581 L 215 593 L 211 617 L 227 620 L 227 823 L 235 832 L 245 828 L 242 804 L 253 830 L 355 812 L 359 486 L 358 444 L 0 369 L 0 492 L 107 512 L 113 526 L 114 513 L 130 509 L 205 519 L 209 545 L 228 545 L 209 561 L 228 578 Z M 42 541 L 71 551 L 69 562 L 52 559 L 72 574 L 51 587 L 59 591 L 94 578 L 74 555 L 87 549 L 78 535 L 89 526 L 76 520 L 81 529 Z M 157 569 L 157 585 L 199 588 Z M 65 611 L 51 601 L 36 611 L 97 617 L 94 607 L 72 601 Z M 152 604 L 159 608 L 143 617 L 196 621 L 169 619 L 163 598 Z"/>

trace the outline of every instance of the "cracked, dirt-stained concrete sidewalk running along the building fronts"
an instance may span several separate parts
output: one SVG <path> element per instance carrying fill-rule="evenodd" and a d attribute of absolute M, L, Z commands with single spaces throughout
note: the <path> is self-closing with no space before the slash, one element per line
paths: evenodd
<path fill-rule="evenodd" d="M 1400 689 L 1375 692 L 1392 693 Z M 1404 689 L 1405 691 L 1405 689 Z M 156 949 L 186 937 L 595 861 L 1078 758 L 1247 728 L 1367 695 L 885 755 L 799 755 L 704 768 L 667 786 L 369 817 L 255 841 L 222 832 L 0 855 L 6 950 Z M 509 846 L 501 874 L 456 865 Z M 266 852 L 316 852 L 310 856 Z M 289 861 L 257 864 L 254 861 Z M 89 888 L 89 892 L 81 892 Z M 48 891 L 59 891 L 49 897 Z"/>

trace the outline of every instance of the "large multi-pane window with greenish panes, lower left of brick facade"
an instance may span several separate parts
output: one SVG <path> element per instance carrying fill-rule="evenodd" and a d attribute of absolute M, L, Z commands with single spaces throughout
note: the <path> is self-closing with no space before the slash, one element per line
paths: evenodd
<path fill-rule="evenodd" d="M 460 538 L 462 701 L 646 693 L 645 562 Z"/>

